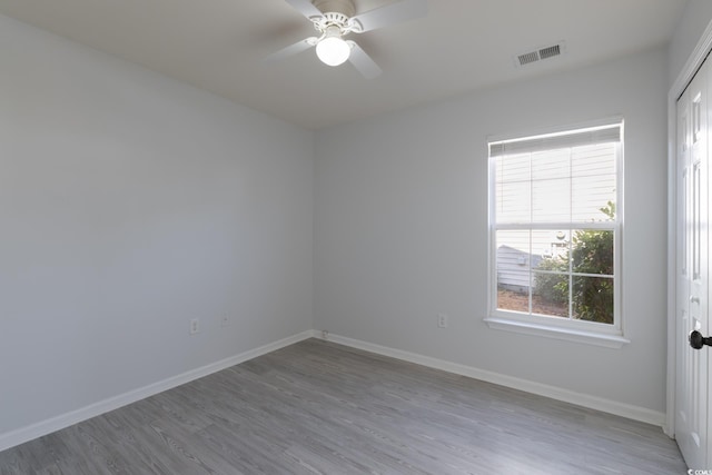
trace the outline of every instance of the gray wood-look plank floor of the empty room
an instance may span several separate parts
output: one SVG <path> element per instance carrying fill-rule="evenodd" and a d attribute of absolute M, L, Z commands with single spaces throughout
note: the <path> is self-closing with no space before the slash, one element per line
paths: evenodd
<path fill-rule="evenodd" d="M 10 474 L 685 474 L 660 427 L 309 339 L 0 452 Z"/>

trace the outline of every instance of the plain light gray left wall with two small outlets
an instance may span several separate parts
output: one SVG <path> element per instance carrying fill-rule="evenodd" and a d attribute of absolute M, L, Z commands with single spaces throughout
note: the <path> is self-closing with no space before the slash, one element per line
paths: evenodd
<path fill-rule="evenodd" d="M 6 17 L 0 43 L 0 434 L 312 328 L 312 131 Z"/>

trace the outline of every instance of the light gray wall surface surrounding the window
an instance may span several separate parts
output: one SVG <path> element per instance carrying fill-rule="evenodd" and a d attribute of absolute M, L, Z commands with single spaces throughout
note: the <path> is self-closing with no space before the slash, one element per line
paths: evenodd
<path fill-rule="evenodd" d="M 664 412 L 666 66 L 651 51 L 317 132 L 315 328 Z M 616 115 L 632 343 L 490 329 L 487 136 Z"/>

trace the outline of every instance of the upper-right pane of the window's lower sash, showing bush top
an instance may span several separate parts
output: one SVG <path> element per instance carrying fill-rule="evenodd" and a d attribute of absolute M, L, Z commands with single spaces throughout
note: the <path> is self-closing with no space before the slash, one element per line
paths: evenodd
<path fill-rule="evenodd" d="M 612 276 L 613 231 L 575 230 L 571 255 L 574 273 Z"/>

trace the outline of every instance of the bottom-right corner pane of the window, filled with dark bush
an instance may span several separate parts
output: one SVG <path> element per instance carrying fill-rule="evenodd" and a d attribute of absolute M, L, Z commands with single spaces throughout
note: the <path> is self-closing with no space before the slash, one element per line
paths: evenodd
<path fill-rule="evenodd" d="M 613 324 L 613 278 L 572 277 L 574 318 Z"/>

